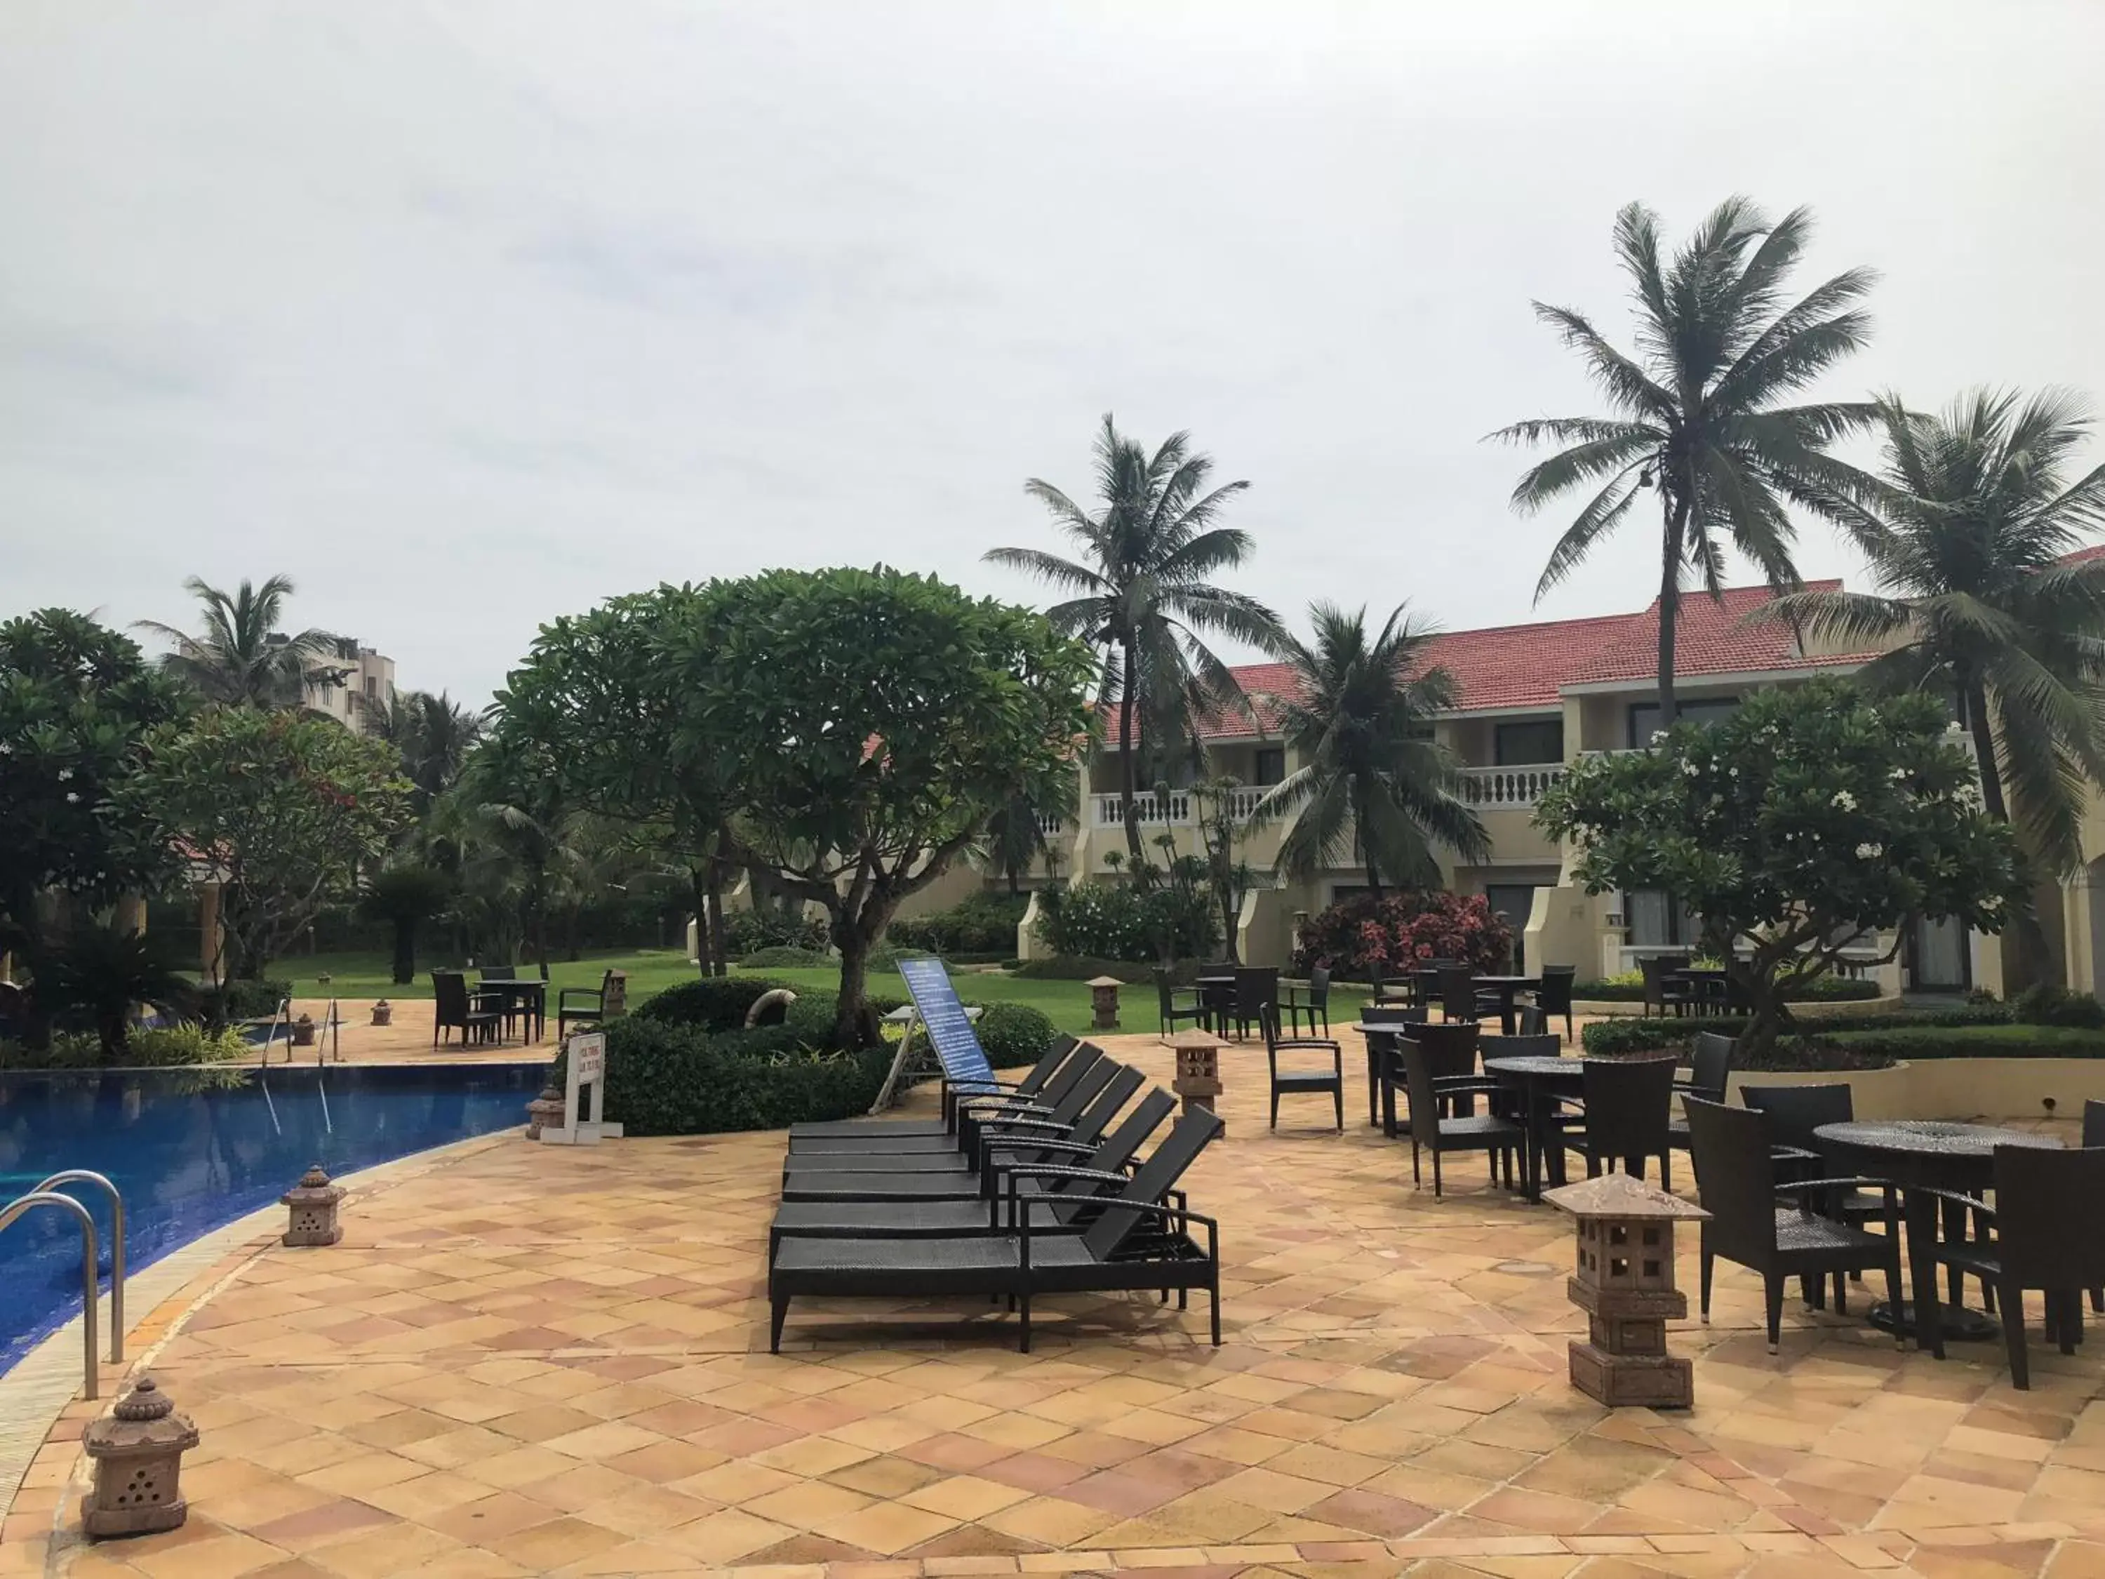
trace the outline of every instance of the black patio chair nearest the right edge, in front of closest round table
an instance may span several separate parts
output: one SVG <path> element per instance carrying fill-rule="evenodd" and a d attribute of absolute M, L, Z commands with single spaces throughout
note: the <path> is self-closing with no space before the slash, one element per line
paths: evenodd
<path fill-rule="evenodd" d="M 1996 1284 L 1998 1316 L 2010 1354 L 2010 1385 L 2031 1387 L 2025 1352 L 2025 1288 L 2046 1297 L 2046 1341 L 2076 1354 L 2084 1341 L 2084 1291 L 2105 1284 L 2105 1150 L 1996 1147 L 1996 1204 L 1953 1190 L 1926 1190 L 1962 1206 L 1989 1236 L 1943 1238 L 1932 1251 L 1943 1267 Z M 1922 1278 L 1928 1299 L 1916 1312 L 1916 1341 L 1939 1360 L 1945 1333 L 1937 1278 Z"/>

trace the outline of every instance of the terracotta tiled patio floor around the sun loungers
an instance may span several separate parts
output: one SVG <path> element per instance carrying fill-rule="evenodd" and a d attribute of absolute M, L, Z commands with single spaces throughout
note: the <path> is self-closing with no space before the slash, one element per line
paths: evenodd
<path fill-rule="evenodd" d="M 1111 1046 L 1166 1078 L 1151 1038 Z M 1364 1091 L 1343 1137 L 1320 1101 L 1274 1135 L 1261 1057 L 1225 1076 L 1191 1181 L 1221 1350 L 1202 1301 L 1120 1297 L 1050 1301 L 1031 1356 L 987 1307 L 798 1305 L 773 1358 L 781 1135 L 493 1137 L 149 1316 L 204 1432 L 187 1528 L 78 1541 L 76 1404 L 0 1573 L 2105 1575 L 2105 1343 L 2036 1347 L 2019 1394 L 2000 1345 L 1939 1364 L 1793 1303 L 1770 1356 L 1722 1267 L 1716 1322 L 1671 1333 L 1697 1408 L 1610 1415 L 1564 1377 L 1564 1219 L 1480 1160 L 1415 1194 Z"/>

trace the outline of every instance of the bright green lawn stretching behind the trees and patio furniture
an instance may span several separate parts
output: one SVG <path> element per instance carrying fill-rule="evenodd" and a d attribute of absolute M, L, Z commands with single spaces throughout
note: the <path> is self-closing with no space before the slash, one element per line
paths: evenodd
<path fill-rule="evenodd" d="M 432 996 L 432 964 L 436 960 L 417 962 L 417 981 L 406 987 L 398 987 L 389 981 L 392 962 L 385 954 L 312 954 L 293 960 L 278 960 L 272 964 L 269 975 L 288 979 L 293 983 L 293 994 L 299 998 L 429 998 Z M 436 962 L 442 964 L 444 962 Z M 627 971 L 629 975 L 629 1002 L 642 1002 L 665 987 L 680 981 L 695 979 L 695 966 L 686 962 L 686 954 L 680 950 L 634 950 L 627 954 L 587 954 L 583 960 L 558 960 L 547 968 L 549 985 L 554 987 L 598 987 L 602 971 Z M 328 973 L 330 981 L 322 983 L 322 973 Z M 840 973 L 831 968 L 789 968 L 789 971 L 754 971 L 737 975 L 766 975 L 779 981 L 787 981 L 794 987 L 815 990 L 834 987 L 840 981 Z M 1025 977 L 1013 977 L 1002 971 L 973 971 L 954 968 L 951 981 L 958 983 L 958 996 L 966 1002 L 1013 1002 L 1029 1004 L 1031 1008 L 1044 1011 L 1050 1021 L 1071 1036 L 1082 1036 L 1088 1032 L 1088 987 L 1080 981 L 1034 981 Z M 890 994 L 895 998 L 905 998 L 905 981 L 899 979 L 895 971 L 876 971 L 869 977 L 869 990 L 876 994 Z M 1362 994 L 1351 987 L 1339 987 L 1330 996 L 1330 1021 L 1335 1025 L 1349 1025 L 1358 1015 L 1358 1002 Z M 1137 985 L 1126 987 L 1120 996 L 1124 1030 L 1145 1032 L 1156 1027 L 1156 1006 L 1149 987 Z M 549 1002 L 554 1013 L 554 1000 Z"/>

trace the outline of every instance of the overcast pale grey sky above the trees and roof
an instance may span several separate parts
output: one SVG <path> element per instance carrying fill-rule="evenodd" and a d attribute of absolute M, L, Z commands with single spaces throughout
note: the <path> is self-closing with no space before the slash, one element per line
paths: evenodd
<path fill-rule="evenodd" d="M 1598 406 L 1528 299 L 1625 339 L 1631 198 L 1878 267 L 1836 394 L 2105 398 L 2101 61 L 2099 0 L 8 0 L 0 615 L 284 571 L 484 701 L 661 579 L 1042 600 L 979 554 L 1114 411 L 1252 482 L 1280 611 L 1526 619 L 1560 522 L 1480 438 Z"/>

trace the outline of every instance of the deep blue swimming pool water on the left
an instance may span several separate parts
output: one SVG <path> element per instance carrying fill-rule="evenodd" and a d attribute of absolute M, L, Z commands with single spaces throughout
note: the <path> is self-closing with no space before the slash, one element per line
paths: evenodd
<path fill-rule="evenodd" d="M 128 1270 L 269 1206 L 309 1162 L 349 1173 L 522 1124 L 545 1063 L 0 1074 L 0 1204 L 61 1168 L 124 1192 Z M 109 1280 L 107 1198 L 95 1211 Z M 80 1312 L 80 1227 L 0 1234 L 0 1373 Z M 143 1316 L 145 1312 L 133 1312 Z"/>

